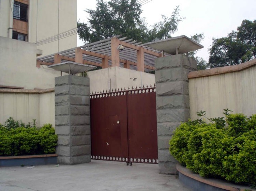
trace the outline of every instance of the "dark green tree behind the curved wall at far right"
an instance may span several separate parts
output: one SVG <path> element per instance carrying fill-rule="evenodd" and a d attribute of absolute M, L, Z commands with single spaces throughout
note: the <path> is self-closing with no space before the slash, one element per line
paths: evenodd
<path fill-rule="evenodd" d="M 243 20 L 237 31 L 223 38 L 213 38 L 209 67 L 237 65 L 256 58 L 256 20 Z"/>

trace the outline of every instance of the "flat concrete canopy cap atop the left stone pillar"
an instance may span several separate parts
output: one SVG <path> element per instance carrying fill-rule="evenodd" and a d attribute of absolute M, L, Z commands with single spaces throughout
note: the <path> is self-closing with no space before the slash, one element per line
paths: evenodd
<path fill-rule="evenodd" d="M 96 66 L 79 64 L 79 63 L 68 61 L 68 62 L 62 62 L 62 63 L 50 65 L 48 66 L 48 68 L 53 68 L 54 70 L 66 72 L 69 74 L 77 74 L 77 73 L 87 71 L 89 69 L 96 68 Z"/>

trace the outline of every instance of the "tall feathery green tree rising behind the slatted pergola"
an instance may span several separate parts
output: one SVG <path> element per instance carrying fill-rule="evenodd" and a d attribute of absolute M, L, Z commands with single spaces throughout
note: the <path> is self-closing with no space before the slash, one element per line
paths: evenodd
<path fill-rule="evenodd" d="M 96 10 L 87 9 L 89 24 L 77 22 L 77 32 L 85 42 L 95 42 L 121 34 L 140 42 L 149 42 L 171 37 L 177 31 L 180 17 L 176 6 L 171 17 L 162 15 L 163 21 L 148 29 L 145 19 L 140 17 L 141 4 L 136 0 L 97 0 Z"/>

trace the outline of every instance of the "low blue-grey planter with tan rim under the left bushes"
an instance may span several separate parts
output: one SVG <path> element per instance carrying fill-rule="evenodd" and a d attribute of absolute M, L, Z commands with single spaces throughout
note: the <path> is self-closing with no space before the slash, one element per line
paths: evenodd
<path fill-rule="evenodd" d="M 57 154 L 0 157 L 0 167 L 56 164 Z"/>

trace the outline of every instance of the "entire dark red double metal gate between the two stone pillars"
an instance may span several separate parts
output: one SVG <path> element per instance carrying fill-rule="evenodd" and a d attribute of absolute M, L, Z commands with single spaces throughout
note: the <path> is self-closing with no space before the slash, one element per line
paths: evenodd
<path fill-rule="evenodd" d="M 155 87 L 90 96 L 91 158 L 158 163 Z"/>

